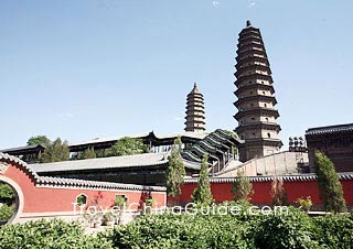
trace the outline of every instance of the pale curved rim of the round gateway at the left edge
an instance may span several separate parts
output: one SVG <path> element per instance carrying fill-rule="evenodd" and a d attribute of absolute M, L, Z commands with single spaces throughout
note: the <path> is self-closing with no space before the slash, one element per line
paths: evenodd
<path fill-rule="evenodd" d="M 0 183 L 2 184 L 7 184 L 8 186 L 11 187 L 11 190 L 13 191 L 14 194 L 14 208 L 13 208 L 13 214 L 12 216 L 7 220 L 6 224 L 13 224 L 13 223 L 18 223 L 19 218 L 23 212 L 23 202 L 24 202 L 24 197 L 23 197 L 23 193 L 20 188 L 20 186 L 12 181 L 9 177 L 6 177 L 3 175 L 0 175 Z"/>

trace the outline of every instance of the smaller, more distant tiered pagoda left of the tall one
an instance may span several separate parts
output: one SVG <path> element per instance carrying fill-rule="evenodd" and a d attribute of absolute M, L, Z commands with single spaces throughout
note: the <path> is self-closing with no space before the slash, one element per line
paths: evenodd
<path fill-rule="evenodd" d="M 205 131 L 205 110 L 203 95 L 200 93 L 196 83 L 186 99 L 185 131 Z"/>

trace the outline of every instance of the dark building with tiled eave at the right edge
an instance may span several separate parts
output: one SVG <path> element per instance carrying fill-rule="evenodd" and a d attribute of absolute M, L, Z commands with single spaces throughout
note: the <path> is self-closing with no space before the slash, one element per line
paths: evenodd
<path fill-rule="evenodd" d="M 315 150 L 328 155 L 338 172 L 353 172 L 353 123 L 310 128 L 306 139 L 311 172 L 314 172 Z"/>

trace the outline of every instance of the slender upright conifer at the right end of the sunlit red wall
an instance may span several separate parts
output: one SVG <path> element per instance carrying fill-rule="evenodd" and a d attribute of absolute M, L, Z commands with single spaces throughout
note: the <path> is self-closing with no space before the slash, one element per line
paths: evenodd
<path fill-rule="evenodd" d="M 167 193 L 169 196 L 175 198 L 181 194 L 181 185 L 184 183 L 186 175 L 184 163 L 181 156 L 181 138 L 174 140 L 171 154 L 168 158 L 167 169 Z"/>

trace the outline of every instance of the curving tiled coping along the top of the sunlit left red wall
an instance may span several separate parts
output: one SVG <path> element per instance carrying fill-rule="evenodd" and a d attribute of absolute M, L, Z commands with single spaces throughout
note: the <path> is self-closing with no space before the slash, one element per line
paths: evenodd
<path fill-rule="evenodd" d="M 0 161 L 14 163 L 21 166 L 29 175 L 34 180 L 35 186 L 39 187 L 82 187 L 82 188 L 98 188 L 98 190 L 135 190 L 135 191 L 157 191 L 165 192 L 165 187 L 158 186 L 143 186 L 135 184 L 122 184 L 122 183 L 110 183 L 110 182 L 97 182 L 97 181 L 86 181 L 77 178 L 62 178 L 62 177 L 50 177 L 50 176 L 39 176 L 33 167 L 22 160 L 4 154 L 0 152 Z"/>

